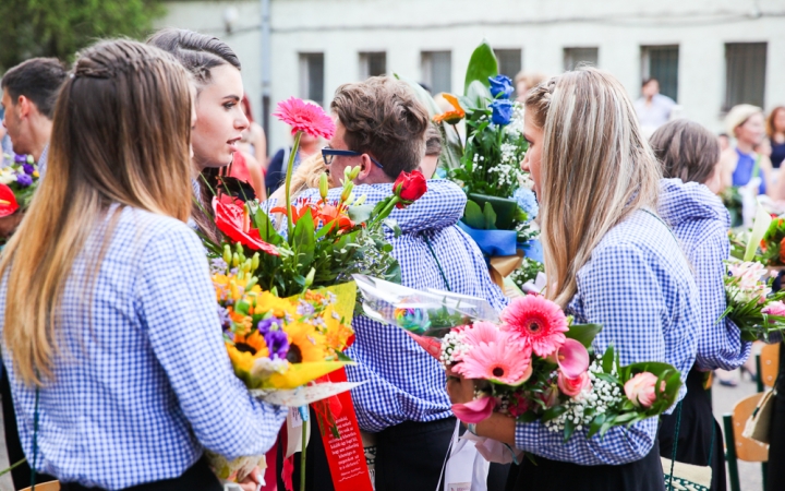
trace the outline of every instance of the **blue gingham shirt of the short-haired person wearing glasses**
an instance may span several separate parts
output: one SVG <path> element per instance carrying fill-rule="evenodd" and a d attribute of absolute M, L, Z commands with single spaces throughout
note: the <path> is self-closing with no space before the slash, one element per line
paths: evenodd
<path fill-rule="evenodd" d="M 401 284 L 415 289 L 446 290 L 426 240 L 454 292 L 485 298 L 495 309 L 506 307 L 502 290 L 491 280 L 487 265 L 474 241 L 456 223 L 463 216 L 466 194 L 455 183 L 432 179 L 427 192 L 406 209 L 395 209 L 403 233 L 387 239 L 401 267 Z M 391 195 L 391 184 L 354 188 L 354 194 L 376 204 Z M 340 190 L 330 191 L 337 199 Z M 310 191 L 305 196 L 317 196 Z M 357 342 L 347 351 L 355 366 L 347 367 L 348 379 L 365 382 L 352 390 L 360 428 L 377 432 L 403 421 L 435 421 L 452 416 L 445 392 L 445 372 L 439 363 L 400 327 L 365 316 L 354 318 Z"/>

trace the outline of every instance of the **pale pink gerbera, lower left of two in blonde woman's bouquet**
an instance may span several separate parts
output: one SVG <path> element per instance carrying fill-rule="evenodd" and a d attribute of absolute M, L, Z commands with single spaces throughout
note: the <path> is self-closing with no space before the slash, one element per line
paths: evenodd
<path fill-rule="evenodd" d="M 467 379 L 484 379 L 518 385 L 531 376 L 531 348 L 509 338 L 481 343 L 463 354 L 452 369 Z"/>

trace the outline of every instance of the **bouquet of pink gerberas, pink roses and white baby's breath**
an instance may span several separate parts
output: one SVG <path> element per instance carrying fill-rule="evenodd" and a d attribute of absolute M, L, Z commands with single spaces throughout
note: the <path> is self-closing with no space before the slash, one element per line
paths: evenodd
<path fill-rule="evenodd" d="M 486 312 L 467 308 L 482 304 L 481 299 L 450 303 L 447 294 L 437 291 L 381 298 L 376 295 L 379 280 L 373 283 L 375 289 L 369 289 L 358 279 L 363 296 L 371 300 L 369 309 L 381 307 L 375 311 L 377 319 L 407 328 L 445 368 L 476 381 L 474 400 L 452 406 L 462 421 L 479 422 L 497 411 L 518 421 L 540 420 L 567 441 L 575 431 L 585 429 L 592 436 L 635 424 L 676 402 L 681 379 L 675 368 L 655 361 L 621 366 L 613 347 L 593 354 L 591 345 L 602 327 L 572 323 L 543 297 L 512 299 L 499 322 L 488 322 L 480 320 Z M 423 302 L 423 295 L 443 300 Z M 443 310 L 460 313 L 456 321 L 473 320 L 436 332 L 426 327 L 431 314 Z M 396 312 L 407 313 L 404 324 Z M 414 334 L 418 328 L 423 335 L 442 336 L 440 340 Z"/>

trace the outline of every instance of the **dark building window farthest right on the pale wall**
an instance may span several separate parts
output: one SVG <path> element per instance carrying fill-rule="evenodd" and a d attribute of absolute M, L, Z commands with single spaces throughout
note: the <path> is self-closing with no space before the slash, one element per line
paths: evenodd
<path fill-rule="evenodd" d="M 728 43 L 725 45 L 725 105 L 763 107 L 765 93 L 765 43 Z"/>

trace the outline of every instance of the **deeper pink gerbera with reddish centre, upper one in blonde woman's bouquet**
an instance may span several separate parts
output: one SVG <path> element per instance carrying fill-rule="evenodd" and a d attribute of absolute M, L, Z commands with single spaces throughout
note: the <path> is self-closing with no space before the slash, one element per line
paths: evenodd
<path fill-rule="evenodd" d="M 528 295 L 514 299 L 502 312 L 503 330 L 520 339 L 541 357 L 556 351 L 566 339 L 567 316 L 544 297 Z"/>

